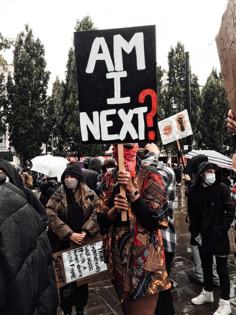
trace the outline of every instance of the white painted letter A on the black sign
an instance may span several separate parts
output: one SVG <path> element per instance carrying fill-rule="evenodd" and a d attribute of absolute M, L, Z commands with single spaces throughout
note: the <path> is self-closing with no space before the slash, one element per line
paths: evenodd
<path fill-rule="evenodd" d="M 100 47 L 103 51 L 102 53 L 99 53 Z M 93 42 L 90 55 L 89 55 L 88 65 L 85 70 L 87 73 L 94 72 L 94 68 L 95 68 L 95 64 L 97 60 L 105 60 L 109 72 L 115 70 L 113 62 L 112 62 L 112 58 L 108 49 L 108 45 L 104 37 L 96 37 Z"/>

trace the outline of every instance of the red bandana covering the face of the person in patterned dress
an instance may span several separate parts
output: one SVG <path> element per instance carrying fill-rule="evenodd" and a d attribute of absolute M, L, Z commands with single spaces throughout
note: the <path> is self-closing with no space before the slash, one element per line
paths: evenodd
<path fill-rule="evenodd" d="M 135 166 L 136 166 L 136 153 L 138 150 L 138 145 L 133 147 L 131 150 L 123 148 L 124 152 L 124 168 L 127 172 L 130 173 L 131 177 L 135 175 Z M 113 146 L 114 158 L 118 164 L 118 149 Z"/>

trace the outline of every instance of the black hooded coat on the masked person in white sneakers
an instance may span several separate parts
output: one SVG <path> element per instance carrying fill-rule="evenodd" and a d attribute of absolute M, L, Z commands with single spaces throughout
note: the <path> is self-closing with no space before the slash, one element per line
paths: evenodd
<path fill-rule="evenodd" d="M 216 167 L 216 181 L 209 187 L 205 200 L 200 189 L 204 169 Z M 228 231 L 235 216 L 235 206 L 228 187 L 222 182 L 220 167 L 211 162 L 203 162 L 195 175 L 194 184 L 189 188 L 188 215 L 189 231 L 197 237 L 202 235 L 203 254 L 227 255 L 230 253 Z"/>

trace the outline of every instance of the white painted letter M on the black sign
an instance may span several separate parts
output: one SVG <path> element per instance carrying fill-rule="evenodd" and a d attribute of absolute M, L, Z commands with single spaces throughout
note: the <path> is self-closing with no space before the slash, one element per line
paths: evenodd
<path fill-rule="evenodd" d="M 143 70 L 146 68 L 143 33 L 135 33 L 129 42 L 127 42 L 119 34 L 114 36 L 114 60 L 116 71 L 123 71 L 123 58 L 121 48 L 123 48 L 123 50 L 127 54 L 129 54 L 134 47 L 136 51 L 137 70 Z"/>

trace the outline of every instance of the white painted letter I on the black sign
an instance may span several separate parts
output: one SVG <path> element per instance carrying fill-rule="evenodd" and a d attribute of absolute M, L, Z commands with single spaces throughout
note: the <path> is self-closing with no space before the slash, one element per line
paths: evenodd
<path fill-rule="evenodd" d="M 108 104 L 125 104 L 130 103 L 130 97 L 120 97 L 120 78 L 127 77 L 127 71 L 109 72 L 106 74 L 107 79 L 114 79 L 113 98 L 107 99 Z"/>

